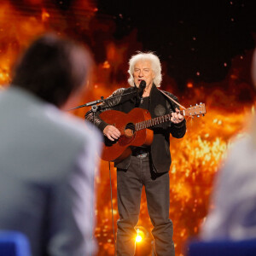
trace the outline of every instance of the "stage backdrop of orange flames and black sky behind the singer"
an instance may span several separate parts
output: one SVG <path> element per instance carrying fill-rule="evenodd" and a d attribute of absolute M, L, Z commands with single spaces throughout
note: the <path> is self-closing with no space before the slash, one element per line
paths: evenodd
<path fill-rule="evenodd" d="M 137 50 L 160 56 L 161 88 L 184 106 L 205 102 L 207 115 L 188 119 L 188 132 L 171 142 L 171 211 L 177 256 L 199 232 L 207 215 L 212 182 L 231 138 L 242 136 L 254 112 L 250 62 L 255 45 L 255 1 L 2 0 L 0 88 L 30 40 L 46 31 L 78 39 L 93 52 L 96 67 L 83 102 L 127 87 L 127 62 Z M 74 113 L 81 118 L 89 109 Z M 112 166 L 116 229 L 116 173 Z M 113 255 L 108 163 L 96 175 L 98 255 Z M 145 195 L 139 225 L 150 230 Z"/>

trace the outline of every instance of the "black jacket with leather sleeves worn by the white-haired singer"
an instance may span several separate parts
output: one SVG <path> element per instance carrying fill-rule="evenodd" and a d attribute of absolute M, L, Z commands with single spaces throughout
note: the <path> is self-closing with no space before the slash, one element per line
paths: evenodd
<path fill-rule="evenodd" d="M 129 96 L 124 96 L 128 92 L 134 92 Z M 165 91 L 166 92 L 166 91 Z M 171 93 L 166 92 L 168 96 L 171 96 L 175 101 L 177 97 Z M 113 96 L 118 96 L 113 98 Z M 108 97 L 108 101 L 102 103 L 100 111 L 96 113 L 95 125 L 103 131 L 108 125 L 102 119 L 99 114 L 108 109 L 119 110 L 124 113 L 129 113 L 131 109 L 136 107 L 137 88 L 120 88 L 113 92 L 113 95 Z M 166 96 L 164 96 L 160 90 L 153 84 L 149 96 L 149 113 L 152 118 L 165 115 L 166 113 L 172 113 L 175 108 L 179 108 L 177 104 L 172 102 Z M 85 119 L 93 122 L 93 113 L 91 111 L 85 114 Z M 150 159 L 153 164 L 154 172 L 168 172 L 172 163 L 170 154 L 170 134 L 172 137 L 182 138 L 186 133 L 186 121 L 179 124 L 173 124 L 171 121 L 154 125 L 152 128 L 154 131 L 153 143 L 150 146 Z M 127 169 L 130 165 L 131 156 L 122 160 L 118 164 L 115 164 L 117 168 Z"/>

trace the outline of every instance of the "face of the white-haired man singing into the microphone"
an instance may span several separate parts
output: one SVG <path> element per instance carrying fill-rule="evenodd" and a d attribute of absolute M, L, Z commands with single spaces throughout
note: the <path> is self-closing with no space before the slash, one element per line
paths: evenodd
<path fill-rule="evenodd" d="M 154 79 L 154 72 L 151 68 L 151 62 L 137 61 L 134 65 L 133 78 L 137 87 L 139 87 L 141 81 L 144 80 L 146 82 L 146 88 L 150 88 Z"/>

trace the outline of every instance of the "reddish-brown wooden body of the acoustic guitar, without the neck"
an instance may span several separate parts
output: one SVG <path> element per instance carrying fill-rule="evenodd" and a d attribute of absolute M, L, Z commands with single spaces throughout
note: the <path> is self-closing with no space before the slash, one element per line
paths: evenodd
<path fill-rule="evenodd" d="M 153 131 L 149 129 L 135 131 L 136 123 L 151 119 L 151 115 L 146 109 L 133 108 L 130 113 L 107 110 L 102 112 L 100 117 L 108 125 L 119 129 L 121 133 L 119 139 L 114 142 L 104 137 L 102 160 L 119 162 L 131 154 L 132 147 L 149 146 L 153 142 Z"/>

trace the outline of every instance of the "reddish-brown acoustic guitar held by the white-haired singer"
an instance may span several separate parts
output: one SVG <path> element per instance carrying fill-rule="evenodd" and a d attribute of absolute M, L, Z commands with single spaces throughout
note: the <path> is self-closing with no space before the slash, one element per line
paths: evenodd
<path fill-rule="evenodd" d="M 203 103 L 181 110 L 183 116 L 201 116 L 207 113 Z M 119 129 L 121 135 L 113 142 L 104 137 L 102 150 L 102 160 L 120 161 L 131 154 L 131 148 L 149 146 L 153 142 L 154 132 L 147 128 L 160 123 L 170 121 L 172 114 L 151 119 L 148 110 L 143 108 L 133 108 L 129 113 L 116 110 L 107 110 L 100 114 L 108 125 L 113 125 Z"/>

